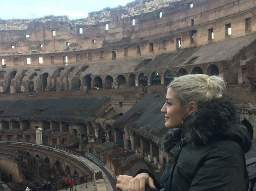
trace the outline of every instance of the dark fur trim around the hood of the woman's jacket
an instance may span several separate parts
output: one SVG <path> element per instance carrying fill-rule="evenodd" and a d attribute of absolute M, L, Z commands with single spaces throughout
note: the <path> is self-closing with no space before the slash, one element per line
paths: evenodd
<path fill-rule="evenodd" d="M 184 119 L 182 130 L 172 129 L 162 138 L 161 150 L 169 151 L 183 132 L 184 142 L 207 145 L 211 141 L 229 139 L 236 141 L 246 153 L 251 148 L 251 137 L 237 114 L 235 105 L 225 96 L 202 104 Z"/>

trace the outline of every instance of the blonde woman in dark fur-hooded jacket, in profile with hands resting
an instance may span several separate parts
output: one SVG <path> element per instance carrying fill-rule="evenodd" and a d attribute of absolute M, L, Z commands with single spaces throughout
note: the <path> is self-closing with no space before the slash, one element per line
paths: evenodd
<path fill-rule="evenodd" d="M 123 191 L 246 191 L 248 173 L 244 153 L 251 137 L 237 116 L 235 105 L 223 96 L 220 76 L 185 75 L 173 80 L 161 109 L 165 126 L 161 150 L 169 154 L 157 182 L 146 169 L 134 177 L 119 175 Z"/>

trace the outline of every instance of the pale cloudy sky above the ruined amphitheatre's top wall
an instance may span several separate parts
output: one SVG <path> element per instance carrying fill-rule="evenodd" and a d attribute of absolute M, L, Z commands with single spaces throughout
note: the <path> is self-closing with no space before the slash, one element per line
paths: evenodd
<path fill-rule="evenodd" d="M 71 20 L 86 18 L 88 12 L 115 8 L 134 0 L 0 0 L 1 19 L 40 18 L 67 15 Z"/>

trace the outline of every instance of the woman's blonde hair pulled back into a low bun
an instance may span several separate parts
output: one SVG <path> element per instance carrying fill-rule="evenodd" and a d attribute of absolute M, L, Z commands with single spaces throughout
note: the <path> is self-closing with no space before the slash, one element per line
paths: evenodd
<path fill-rule="evenodd" d="M 173 80 L 168 88 L 176 94 L 182 106 L 187 106 L 192 101 L 200 106 L 202 103 L 222 97 L 226 84 L 221 76 L 190 74 Z"/>

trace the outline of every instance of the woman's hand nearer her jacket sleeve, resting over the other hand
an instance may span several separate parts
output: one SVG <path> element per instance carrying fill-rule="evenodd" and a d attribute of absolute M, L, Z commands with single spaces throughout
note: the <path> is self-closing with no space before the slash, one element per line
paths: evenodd
<path fill-rule="evenodd" d="M 156 190 L 154 180 L 149 177 L 147 173 L 138 174 L 130 180 L 128 191 L 145 191 L 146 184 L 149 185 L 151 190 Z"/>

